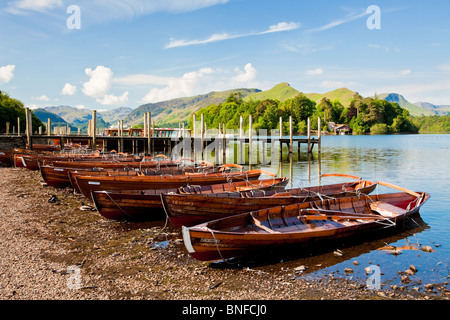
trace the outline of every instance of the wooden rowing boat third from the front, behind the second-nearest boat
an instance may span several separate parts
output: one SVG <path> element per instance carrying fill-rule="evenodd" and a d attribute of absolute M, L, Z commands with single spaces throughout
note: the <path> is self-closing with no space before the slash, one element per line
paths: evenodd
<path fill-rule="evenodd" d="M 105 218 L 152 220 L 164 214 L 163 194 L 239 194 L 245 190 L 284 189 L 288 181 L 287 178 L 273 178 L 172 189 L 93 191 L 91 196 L 98 212 Z"/>

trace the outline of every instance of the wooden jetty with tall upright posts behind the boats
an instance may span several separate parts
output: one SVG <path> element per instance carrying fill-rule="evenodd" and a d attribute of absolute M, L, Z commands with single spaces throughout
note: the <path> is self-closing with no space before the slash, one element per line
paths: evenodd
<path fill-rule="evenodd" d="M 227 148 L 230 148 L 229 143 L 234 141 L 240 145 L 241 155 L 243 154 L 242 150 L 245 150 L 243 149 L 243 146 L 248 146 L 249 159 L 251 159 L 255 145 L 257 148 L 261 145 L 263 152 L 265 152 L 267 144 L 272 146 L 272 151 L 274 150 L 275 144 L 279 144 L 280 153 L 282 152 L 283 145 L 287 145 L 289 153 L 293 153 L 294 146 L 297 145 L 297 152 L 300 153 L 301 144 L 304 144 L 306 145 L 307 153 L 311 154 L 314 146 L 317 144 L 319 154 L 321 152 L 321 130 L 315 132 L 317 137 L 312 137 L 309 118 L 306 137 L 294 137 L 292 117 L 289 118 L 289 136 L 287 137 L 283 135 L 283 119 L 281 117 L 279 130 L 272 130 L 270 135 L 256 135 L 256 131 L 251 129 L 253 127 L 253 119 L 251 116 L 249 116 L 250 130 L 248 130 L 246 134 L 244 134 L 243 130 L 242 116 L 238 132 L 237 130 L 236 132 L 234 132 L 234 130 L 226 130 L 225 125 L 220 124 L 218 133 L 216 133 L 216 130 L 206 130 L 203 114 L 201 115 L 200 121 L 196 120 L 195 114 L 193 115 L 194 126 L 193 130 L 190 130 L 184 128 L 184 123 L 180 123 L 179 128 L 156 128 L 152 126 L 150 112 L 144 114 L 143 129 L 126 129 L 123 126 L 123 121 L 120 120 L 117 128 L 99 133 L 96 128 L 97 112 L 93 110 L 92 120 L 89 120 L 88 133 L 82 135 L 80 134 L 80 130 L 78 130 L 77 134 L 73 134 L 69 127 L 55 127 L 53 132 L 51 132 L 51 130 L 48 129 L 51 128 L 50 119 L 47 121 L 45 133 L 42 132 L 42 128 L 39 128 L 39 132 L 33 133 L 31 128 L 31 110 L 26 109 L 25 114 L 25 134 L 20 133 L 18 127 L 19 130 L 17 136 L 26 138 L 28 149 L 32 149 L 33 144 L 44 142 L 60 146 L 81 144 L 92 150 L 101 149 L 105 152 L 115 150 L 117 152 L 153 155 L 155 153 L 171 154 L 172 150 L 177 145 L 183 144 L 184 148 L 190 149 L 188 154 L 192 154 L 193 151 L 195 156 L 204 159 L 204 151 L 208 146 L 212 145 L 212 148 L 215 149 L 216 160 L 219 160 L 220 154 L 223 155 L 223 159 L 225 160 L 226 150 Z M 321 127 L 320 118 L 318 119 L 318 127 Z M 211 133 L 212 131 L 214 131 L 214 133 Z M 229 134 L 230 131 L 233 131 L 233 133 Z M 261 130 L 259 132 L 261 134 Z M 9 134 L 9 126 L 7 128 L 7 134 Z"/>

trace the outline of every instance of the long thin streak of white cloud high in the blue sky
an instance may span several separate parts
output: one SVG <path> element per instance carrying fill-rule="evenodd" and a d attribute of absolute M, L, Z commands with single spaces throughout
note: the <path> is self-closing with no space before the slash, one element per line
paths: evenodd
<path fill-rule="evenodd" d="M 176 48 L 176 47 L 186 47 L 186 46 L 193 46 L 193 45 L 199 45 L 199 44 L 207 44 L 212 42 L 218 42 L 218 41 L 224 41 L 224 40 L 231 40 L 231 39 L 237 39 L 237 38 L 243 38 L 243 37 L 250 37 L 250 36 L 258 36 L 268 33 L 274 33 L 274 32 L 283 32 L 283 31 L 290 31 L 294 29 L 300 28 L 299 23 L 295 22 L 280 22 L 276 25 L 270 26 L 269 29 L 261 32 L 251 32 L 251 33 L 242 33 L 242 34 L 228 34 L 228 33 L 216 33 L 211 36 L 209 36 L 206 39 L 203 40 L 174 40 L 171 39 L 169 44 L 165 46 L 166 49 L 169 48 Z"/>

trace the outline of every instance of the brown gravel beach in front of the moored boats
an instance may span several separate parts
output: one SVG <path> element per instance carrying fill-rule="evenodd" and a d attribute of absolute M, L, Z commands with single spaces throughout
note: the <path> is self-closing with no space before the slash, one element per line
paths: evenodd
<path fill-rule="evenodd" d="M 215 267 L 190 257 L 170 222 L 107 220 L 39 171 L 2 167 L 0 186 L 2 300 L 448 299 L 292 268 Z"/>

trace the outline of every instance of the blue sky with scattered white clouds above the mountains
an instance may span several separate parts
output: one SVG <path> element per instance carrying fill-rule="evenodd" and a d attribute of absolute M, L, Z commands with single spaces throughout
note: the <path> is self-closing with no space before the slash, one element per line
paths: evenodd
<path fill-rule="evenodd" d="M 0 90 L 96 110 L 280 82 L 450 104 L 449 13 L 447 0 L 2 0 Z"/>

